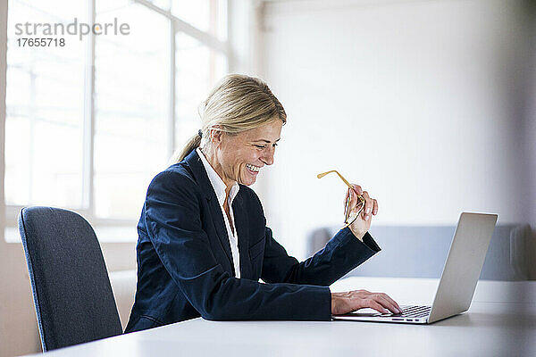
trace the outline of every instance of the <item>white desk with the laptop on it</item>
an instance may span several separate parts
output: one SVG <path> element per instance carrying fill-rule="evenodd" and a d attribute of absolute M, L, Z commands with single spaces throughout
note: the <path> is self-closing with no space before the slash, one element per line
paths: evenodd
<path fill-rule="evenodd" d="M 431 303 L 438 279 L 348 278 L 332 291 L 383 291 Z M 481 281 L 468 313 L 432 325 L 188 320 L 47 353 L 71 356 L 534 356 L 536 282 Z"/>

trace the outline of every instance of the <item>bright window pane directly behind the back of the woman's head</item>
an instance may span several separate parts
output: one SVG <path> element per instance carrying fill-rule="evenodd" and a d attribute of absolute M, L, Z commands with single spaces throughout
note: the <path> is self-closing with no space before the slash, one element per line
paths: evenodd
<path fill-rule="evenodd" d="M 183 33 L 175 37 L 175 146 L 201 128 L 197 112 L 208 91 L 227 73 L 227 57 Z"/>

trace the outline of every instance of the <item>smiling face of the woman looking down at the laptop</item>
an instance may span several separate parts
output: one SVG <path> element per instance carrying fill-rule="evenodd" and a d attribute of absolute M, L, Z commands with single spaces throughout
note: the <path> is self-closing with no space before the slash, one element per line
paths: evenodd
<path fill-rule="evenodd" d="M 236 135 L 219 133 L 215 137 L 216 172 L 230 187 L 233 181 L 253 185 L 264 165 L 272 165 L 275 146 L 281 138 L 281 120 Z"/>

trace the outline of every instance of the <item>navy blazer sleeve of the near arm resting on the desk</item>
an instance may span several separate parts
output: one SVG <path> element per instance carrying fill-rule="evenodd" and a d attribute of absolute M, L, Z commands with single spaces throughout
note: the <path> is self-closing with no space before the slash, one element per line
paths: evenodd
<path fill-rule="evenodd" d="M 234 278 L 216 262 L 201 225 L 195 182 L 163 171 L 149 185 L 148 236 L 165 269 L 207 320 L 331 320 L 327 286 Z"/>

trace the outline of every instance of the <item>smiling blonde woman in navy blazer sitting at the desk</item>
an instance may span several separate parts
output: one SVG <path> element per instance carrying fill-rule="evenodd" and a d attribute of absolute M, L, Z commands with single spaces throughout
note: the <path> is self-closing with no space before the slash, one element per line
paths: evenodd
<path fill-rule="evenodd" d="M 331 320 L 363 307 L 398 312 L 384 294 L 329 285 L 380 248 L 366 233 L 377 203 L 305 262 L 266 227 L 249 185 L 273 163 L 287 115 L 260 79 L 229 75 L 200 107 L 202 129 L 156 175 L 138 223 L 138 287 L 125 332 L 208 320 Z M 262 278 L 265 282 L 259 282 Z"/>

